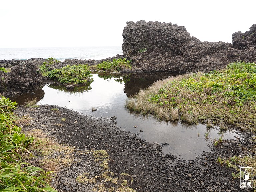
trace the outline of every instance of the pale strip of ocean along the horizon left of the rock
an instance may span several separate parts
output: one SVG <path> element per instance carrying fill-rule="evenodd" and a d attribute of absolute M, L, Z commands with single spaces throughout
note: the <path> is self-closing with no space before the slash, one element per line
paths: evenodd
<path fill-rule="evenodd" d="M 38 48 L 0 48 L 0 60 L 30 58 L 56 58 L 65 59 L 106 59 L 122 54 L 121 46 L 102 47 L 38 47 Z"/>

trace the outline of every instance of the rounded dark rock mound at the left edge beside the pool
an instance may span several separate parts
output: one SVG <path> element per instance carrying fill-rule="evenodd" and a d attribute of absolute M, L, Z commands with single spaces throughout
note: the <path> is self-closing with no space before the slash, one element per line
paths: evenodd
<path fill-rule="evenodd" d="M 0 71 L 0 77 L 0 93 L 6 97 L 28 93 L 43 86 L 42 75 L 37 65 L 31 62 L 18 61 L 10 72 Z"/>

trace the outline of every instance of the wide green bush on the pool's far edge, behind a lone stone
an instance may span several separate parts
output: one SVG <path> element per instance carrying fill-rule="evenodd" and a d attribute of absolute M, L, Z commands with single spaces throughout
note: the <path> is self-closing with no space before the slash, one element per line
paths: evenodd
<path fill-rule="evenodd" d="M 60 69 L 53 69 L 47 75 L 60 83 L 85 84 L 93 80 L 88 65 L 67 65 Z"/>

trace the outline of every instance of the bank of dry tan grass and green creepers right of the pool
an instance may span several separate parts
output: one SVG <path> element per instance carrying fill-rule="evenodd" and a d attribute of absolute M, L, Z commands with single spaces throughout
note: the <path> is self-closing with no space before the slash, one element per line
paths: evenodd
<path fill-rule="evenodd" d="M 159 80 L 140 90 L 125 105 L 135 112 L 152 113 L 164 120 L 197 123 L 210 119 L 222 129 L 232 125 L 247 126 L 255 131 L 255 88 L 256 64 L 234 62 L 222 70 L 187 73 Z"/>

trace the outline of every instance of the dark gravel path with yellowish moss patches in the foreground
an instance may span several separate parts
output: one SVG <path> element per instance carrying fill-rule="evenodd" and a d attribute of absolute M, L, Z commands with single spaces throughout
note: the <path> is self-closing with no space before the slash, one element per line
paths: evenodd
<path fill-rule="evenodd" d="M 219 145 L 212 153 L 183 162 L 162 154 L 159 145 L 117 128 L 111 118 L 92 118 L 51 105 L 19 106 L 15 113 L 31 118 L 24 131 L 41 129 L 58 143 L 74 147 L 71 165 L 60 166 L 52 181 L 58 191 L 242 191 L 239 179 L 232 180 L 234 170 L 216 159 L 243 155 L 248 152 L 243 147 L 252 145 L 249 141 L 242 147 L 237 142 Z"/>

